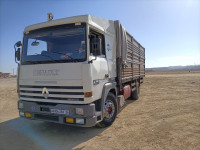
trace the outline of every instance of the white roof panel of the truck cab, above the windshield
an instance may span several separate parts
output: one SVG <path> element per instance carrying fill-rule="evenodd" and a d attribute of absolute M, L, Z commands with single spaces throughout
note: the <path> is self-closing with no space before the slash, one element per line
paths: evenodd
<path fill-rule="evenodd" d="M 96 28 L 99 28 L 103 30 L 104 32 L 111 32 L 111 33 L 115 32 L 114 21 L 107 20 L 100 17 L 93 17 L 91 15 L 73 16 L 73 17 L 56 19 L 56 20 L 51 20 L 51 21 L 46 21 L 46 22 L 30 25 L 25 28 L 24 32 L 29 32 L 31 30 L 50 27 L 50 26 L 70 24 L 70 23 L 80 23 L 80 22 L 89 23 L 90 25 Z M 110 27 L 111 25 L 113 25 L 113 28 Z"/>

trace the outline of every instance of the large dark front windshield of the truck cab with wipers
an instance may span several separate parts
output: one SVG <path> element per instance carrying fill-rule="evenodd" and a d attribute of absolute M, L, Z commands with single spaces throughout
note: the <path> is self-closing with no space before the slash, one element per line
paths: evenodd
<path fill-rule="evenodd" d="M 85 24 L 35 30 L 24 35 L 22 64 L 86 60 Z"/>

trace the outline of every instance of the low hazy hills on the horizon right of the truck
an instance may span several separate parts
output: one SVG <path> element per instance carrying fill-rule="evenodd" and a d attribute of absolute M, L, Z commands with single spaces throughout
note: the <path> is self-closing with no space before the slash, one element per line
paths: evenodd
<path fill-rule="evenodd" d="M 146 68 L 146 71 L 200 70 L 200 65 Z"/>

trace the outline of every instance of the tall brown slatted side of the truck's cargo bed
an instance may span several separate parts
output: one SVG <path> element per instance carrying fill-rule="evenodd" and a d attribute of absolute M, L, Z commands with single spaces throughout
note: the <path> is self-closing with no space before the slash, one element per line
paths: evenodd
<path fill-rule="evenodd" d="M 119 21 L 117 32 L 117 81 L 118 85 L 134 80 L 143 82 L 145 76 L 145 48 L 130 35 Z"/>

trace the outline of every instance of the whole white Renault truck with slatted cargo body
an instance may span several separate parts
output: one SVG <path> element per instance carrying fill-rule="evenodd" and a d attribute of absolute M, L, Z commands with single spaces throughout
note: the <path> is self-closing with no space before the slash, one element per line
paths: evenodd
<path fill-rule="evenodd" d="M 111 125 L 138 99 L 145 49 L 119 21 L 90 15 L 25 28 L 15 44 L 20 117 L 91 127 Z"/>

